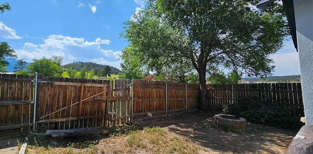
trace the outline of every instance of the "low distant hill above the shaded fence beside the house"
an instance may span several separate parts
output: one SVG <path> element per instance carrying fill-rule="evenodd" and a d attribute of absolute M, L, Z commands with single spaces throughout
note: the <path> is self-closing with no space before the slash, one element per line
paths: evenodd
<path fill-rule="evenodd" d="M 300 75 L 294 75 L 294 76 L 272 76 L 272 77 L 266 77 L 266 78 L 260 78 L 260 77 L 243 77 L 242 80 L 246 81 L 253 81 L 253 82 L 265 82 L 268 80 L 268 82 L 286 82 L 287 80 L 289 82 L 291 81 L 301 81 Z"/>

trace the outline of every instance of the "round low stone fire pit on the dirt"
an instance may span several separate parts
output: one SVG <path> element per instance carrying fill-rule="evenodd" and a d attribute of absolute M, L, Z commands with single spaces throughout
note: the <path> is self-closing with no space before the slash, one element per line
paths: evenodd
<path fill-rule="evenodd" d="M 218 114 L 215 115 L 215 124 L 231 129 L 246 130 L 246 119 L 233 115 Z"/>

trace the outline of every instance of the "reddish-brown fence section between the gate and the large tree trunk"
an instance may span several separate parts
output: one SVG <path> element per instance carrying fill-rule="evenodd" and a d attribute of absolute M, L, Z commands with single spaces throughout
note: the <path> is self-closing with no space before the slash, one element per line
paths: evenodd
<path fill-rule="evenodd" d="M 133 116 L 173 114 L 199 108 L 199 84 L 133 80 Z"/>

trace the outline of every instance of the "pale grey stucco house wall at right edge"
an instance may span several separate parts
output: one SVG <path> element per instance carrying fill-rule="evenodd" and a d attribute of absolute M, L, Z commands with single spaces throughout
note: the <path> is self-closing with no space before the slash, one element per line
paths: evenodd
<path fill-rule="evenodd" d="M 293 0 L 306 124 L 313 124 L 313 0 Z"/>

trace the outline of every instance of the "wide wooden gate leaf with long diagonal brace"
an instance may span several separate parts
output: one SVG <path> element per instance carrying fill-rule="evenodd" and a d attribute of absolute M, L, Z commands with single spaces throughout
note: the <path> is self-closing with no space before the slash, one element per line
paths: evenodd
<path fill-rule="evenodd" d="M 110 81 L 44 77 L 37 88 L 36 132 L 106 125 Z"/>

